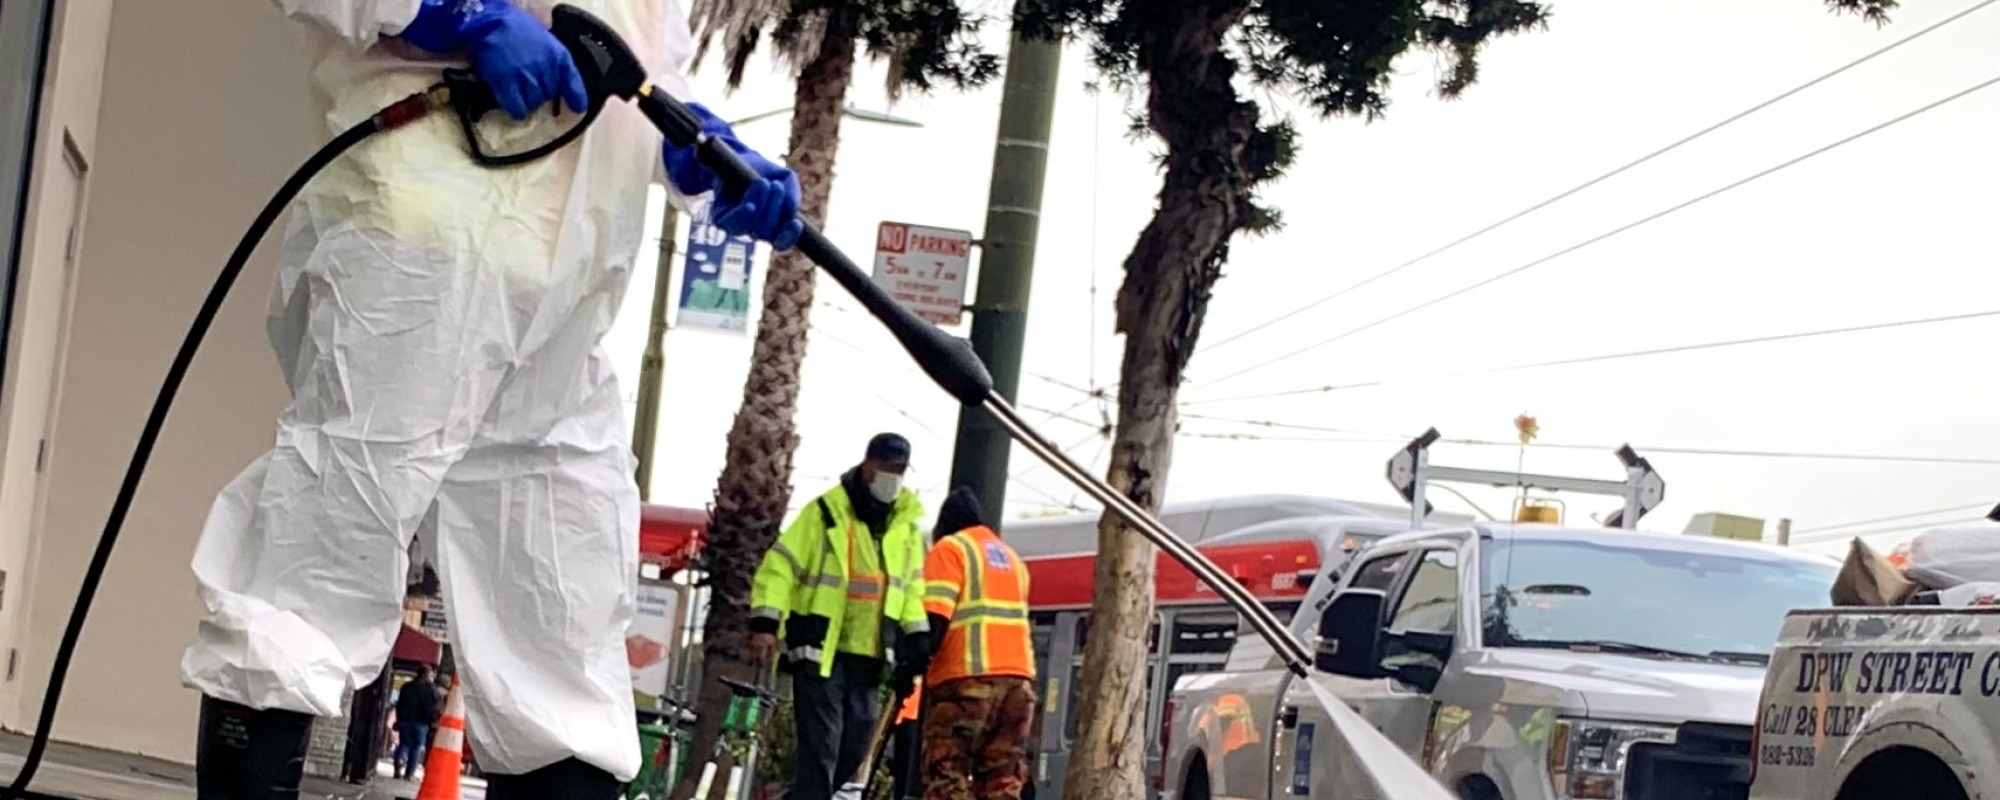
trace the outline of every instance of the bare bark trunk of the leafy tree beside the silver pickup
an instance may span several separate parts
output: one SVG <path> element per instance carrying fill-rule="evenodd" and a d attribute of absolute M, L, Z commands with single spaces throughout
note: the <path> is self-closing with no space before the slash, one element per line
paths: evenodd
<path fill-rule="evenodd" d="M 1202 326 L 1230 238 L 1250 216 L 1246 146 L 1256 106 L 1236 96 L 1224 36 L 1250 0 L 1180 2 L 1148 32 L 1148 124 L 1166 142 L 1160 208 L 1126 256 L 1118 332 L 1126 336 L 1110 482 L 1148 512 L 1160 510 L 1174 452 L 1182 372 Z M 1080 676 L 1080 734 L 1064 800 L 1152 796 L 1146 786 L 1146 634 L 1152 628 L 1154 548 L 1114 514 L 1098 524 L 1096 588 Z M 1162 686 L 1160 690 L 1168 690 Z M 1178 790 L 1178 786 L 1168 786 Z"/>

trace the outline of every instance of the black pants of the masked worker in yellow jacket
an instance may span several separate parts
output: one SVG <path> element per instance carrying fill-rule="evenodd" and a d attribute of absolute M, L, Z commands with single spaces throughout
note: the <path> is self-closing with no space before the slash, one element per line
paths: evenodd
<path fill-rule="evenodd" d="M 882 714 L 882 660 L 834 654 L 828 678 L 816 666 L 792 676 L 798 774 L 786 800 L 832 800 L 868 758 L 868 736 Z"/>

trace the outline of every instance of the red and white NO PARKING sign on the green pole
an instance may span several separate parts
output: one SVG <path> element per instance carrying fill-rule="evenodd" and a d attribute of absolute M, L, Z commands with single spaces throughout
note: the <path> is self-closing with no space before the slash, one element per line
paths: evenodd
<path fill-rule="evenodd" d="M 876 228 L 876 286 L 936 326 L 956 326 L 966 310 L 972 232 L 882 222 Z"/>

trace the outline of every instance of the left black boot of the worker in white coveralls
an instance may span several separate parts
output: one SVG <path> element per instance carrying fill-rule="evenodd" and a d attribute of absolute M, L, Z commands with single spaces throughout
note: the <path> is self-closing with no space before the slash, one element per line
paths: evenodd
<path fill-rule="evenodd" d="M 312 714 L 256 710 L 202 696 L 196 800 L 298 800 Z"/>

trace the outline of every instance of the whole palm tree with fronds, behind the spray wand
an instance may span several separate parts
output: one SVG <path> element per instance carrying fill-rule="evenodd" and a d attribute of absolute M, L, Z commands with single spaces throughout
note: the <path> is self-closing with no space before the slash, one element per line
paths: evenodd
<path fill-rule="evenodd" d="M 688 16 L 698 42 L 696 64 L 710 44 L 720 42 L 730 88 L 742 84 L 744 66 L 764 38 L 794 70 L 786 160 L 798 172 L 800 214 L 814 224 L 826 220 L 842 108 L 860 52 L 890 64 L 890 98 L 904 90 L 928 92 L 936 84 L 978 86 L 1000 72 L 998 58 L 978 46 L 980 20 L 960 12 L 954 0 L 694 0 Z M 792 452 L 798 448 L 792 414 L 798 408 L 812 290 L 812 262 L 796 252 L 772 256 L 750 378 L 730 426 L 728 458 L 716 480 L 702 554 L 710 604 L 702 638 L 700 724 L 692 742 L 698 754 L 710 752 L 728 706 L 728 692 L 716 678 L 750 680 L 766 668 L 754 664 L 744 648 L 750 576 L 776 540 L 792 496 Z M 676 796 L 686 798 L 692 790 L 682 786 Z"/>

